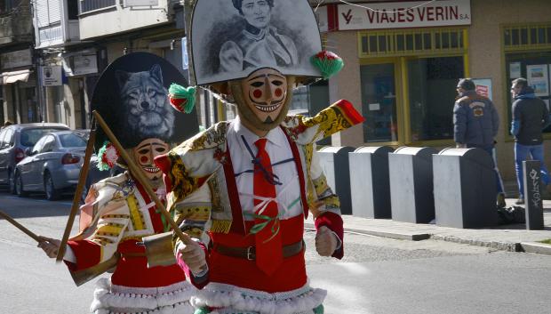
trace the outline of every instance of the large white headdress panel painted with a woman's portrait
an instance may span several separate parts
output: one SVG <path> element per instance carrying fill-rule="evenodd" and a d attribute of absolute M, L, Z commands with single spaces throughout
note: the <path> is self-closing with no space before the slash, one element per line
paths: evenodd
<path fill-rule="evenodd" d="M 244 78 L 259 68 L 325 76 L 312 60 L 322 43 L 307 0 L 197 0 L 189 34 L 197 85 Z"/>

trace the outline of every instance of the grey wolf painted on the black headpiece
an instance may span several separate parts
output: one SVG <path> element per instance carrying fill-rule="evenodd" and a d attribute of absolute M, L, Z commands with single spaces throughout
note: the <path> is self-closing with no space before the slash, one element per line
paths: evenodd
<path fill-rule="evenodd" d="M 117 70 L 115 76 L 123 105 L 121 112 L 129 130 L 146 137 L 170 138 L 174 111 L 163 85 L 161 67 L 155 64 L 148 71 L 136 73 Z"/>

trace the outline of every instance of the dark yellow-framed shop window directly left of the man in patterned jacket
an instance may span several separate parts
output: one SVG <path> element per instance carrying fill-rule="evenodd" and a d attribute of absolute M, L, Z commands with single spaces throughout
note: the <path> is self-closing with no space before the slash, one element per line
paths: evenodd
<path fill-rule="evenodd" d="M 411 141 L 453 138 L 452 111 L 461 77 L 463 57 L 408 61 Z"/>

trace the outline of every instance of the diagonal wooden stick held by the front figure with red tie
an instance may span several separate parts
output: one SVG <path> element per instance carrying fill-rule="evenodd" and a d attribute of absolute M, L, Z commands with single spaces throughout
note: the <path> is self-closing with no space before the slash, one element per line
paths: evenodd
<path fill-rule="evenodd" d="M 156 196 L 155 191 L 153 191 L 153 189 L 149 185 L 148 178 L 146 178 L 145 174 L 143 173 L 143 170 L 138 165 L 136 165 L 136 163 L 134 163 L 132 158 L 128 155 L 128 153 L 126 153 L 126 150 L 123 148 L 121 143 L 118 140 L 116 140 L 115 134 L 111 132 L 111 129 L 109 129 L 109 126 L 105 123 L 103 118 L 100 116 L 100 113 L 94 110 L 92 111 L 92 115 L 93 117 L 96 118 L 96 121 L 100 125 L 101 129 L 103 129 L 103 132 L 105 132 L 106 135 L 108 136 L 109 141 L 113 143 L 117 152 L 120 154 L 121 157 L 123 157 L 124 161 L 126 162 L 126 165 L 128 165 L 128 169 L 132 173 L 132 176 L 137 181 L 140 182 L 143 189 L 145 189 L 146 193 L 148 193 L 148 196 L 151 197 L 151 199 L 155 202 L 157 209 L 160 210 L 161 213 L 164 215 L 165 220 L 170 222 L 171 227 L 174 230 L 174 233 L 176 233 L 178 238 L 180 238 L 180 240 L 182 240 L 184 244 L 189 244 L 190 241 L 192 241 L 191 238 L 189 238 L 188 235 L 184 234 L 180 230 L 180 228 L 178 228 L 178 226 L 176 225 L 176 222 L 174 222 L 174 220 L 172 219 L 171 214 L 168 213 L 166 208 L 164 208 L 163 203 L 161 203 L 161 200 L 159 199 L 159 197 Z"/>

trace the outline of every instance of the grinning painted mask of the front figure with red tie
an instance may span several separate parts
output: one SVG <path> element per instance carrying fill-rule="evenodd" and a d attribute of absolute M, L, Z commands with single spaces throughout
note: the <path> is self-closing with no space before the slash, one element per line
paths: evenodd
<path fill-rule="evenodd" d="M 260 68 L 242 80 L 244 101 L 260 121 L 270 124 L 279 116 L 287 96 L 287 79 L 273 68 Z"/>

